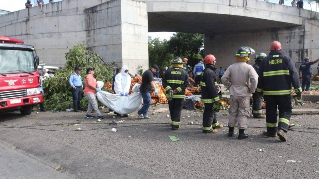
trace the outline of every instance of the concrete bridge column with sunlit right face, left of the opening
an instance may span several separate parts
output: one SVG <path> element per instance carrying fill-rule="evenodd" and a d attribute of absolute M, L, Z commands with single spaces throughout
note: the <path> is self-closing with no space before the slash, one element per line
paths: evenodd
<path fill-rule="evenodd" d="M 111 0 L 85 9 L 87 45 L 105 61 L 127 65 L 131 74 L 148 68 L 146 4 Z"/>

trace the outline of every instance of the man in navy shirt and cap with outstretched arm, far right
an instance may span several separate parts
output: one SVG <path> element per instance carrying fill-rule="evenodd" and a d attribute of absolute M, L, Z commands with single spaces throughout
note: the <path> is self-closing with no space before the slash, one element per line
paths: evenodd
<path fill-rule="evenodd" d="M 306 87 L 306 91 L 309 91 L 310 88 L 310 84 L 311 84 L 311 65 L 317 63 L 319 61 L 319 59 L 316 59 L 313 62 L 310 62 L 311 60 L 306 57 L 305 62 L 302 63 L 299 67 L 299 79 L 301 79 L 302 85 L 301 85 L 301 89 L 302 91 L 305 91 L 305 87 Z M 302 77 L 301 77 L 302 74 Z"/>

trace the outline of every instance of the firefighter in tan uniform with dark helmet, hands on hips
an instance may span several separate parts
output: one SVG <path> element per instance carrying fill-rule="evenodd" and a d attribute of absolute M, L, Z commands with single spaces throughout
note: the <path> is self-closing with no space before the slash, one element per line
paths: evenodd
<path fill-rule="evenodd" d="M 234 127 L 238 127 L 238 139 L 245 139 L 247 128 L 247 117 L 250 117 L 250 94 L 255 92 L 258 75 L 251 65 L 249 55 L 254 54 L 254 49 L 250 47 L 241 47 L 234 56 L 237 63 L 230 65 L 227 71 L 221 77 L 221 81 L 229 89 L 230 109 L 228 120 L 228 136 L 234 135 Z"/>

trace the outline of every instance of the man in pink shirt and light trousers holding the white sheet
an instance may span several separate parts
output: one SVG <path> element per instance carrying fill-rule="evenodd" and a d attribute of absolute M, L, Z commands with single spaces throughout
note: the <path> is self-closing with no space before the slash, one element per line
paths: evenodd
<path fill-rule="evenodd" d="M 100 92 L 101 90 L 97 87 L 96 79 L 94 78 L 94 68 L 88 68 L 86 70 L 87 76 L 85 79 L 85 89 L 84 96 L 88 100 L 89 105 L 87 107 L 85 118 L 94 118 L 91 114 L 92 108 L 97 114 L 98 119 L 103 119 L 104 117 L 101 115 L 98 107 L 98 102 L 96 100 L 95 94 Z"/>

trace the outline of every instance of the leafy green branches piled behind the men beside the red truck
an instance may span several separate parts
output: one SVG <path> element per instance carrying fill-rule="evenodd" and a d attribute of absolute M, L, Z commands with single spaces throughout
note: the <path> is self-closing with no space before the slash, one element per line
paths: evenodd
<path fill-rule="evenodd" d="M 43 81 L 44 105 L 48 110 L 65 110 L 73 107 L 73 99 L 69 78 L 74 73 L 74 67 L 78 66 L 82 69 L 80 75 L 82 77 L 83 86 L 85 86 L 86 69 L 95 68 L 94 76 L 96 80 L 110 81 L 112 80 L 115 70 L 113 64 L 101 64 L 103 58 L 96 54 L 95 51 L 84 44 L 75 45 L 69 52 L 65 54 L 66 63 L 63 69 L 57 70 L 55 77 L 51 77 Z M 102 90 L 106 90 L 104 87 Z M 87 108 L 87 100 L 82 94 L 81 107 Z"/>

